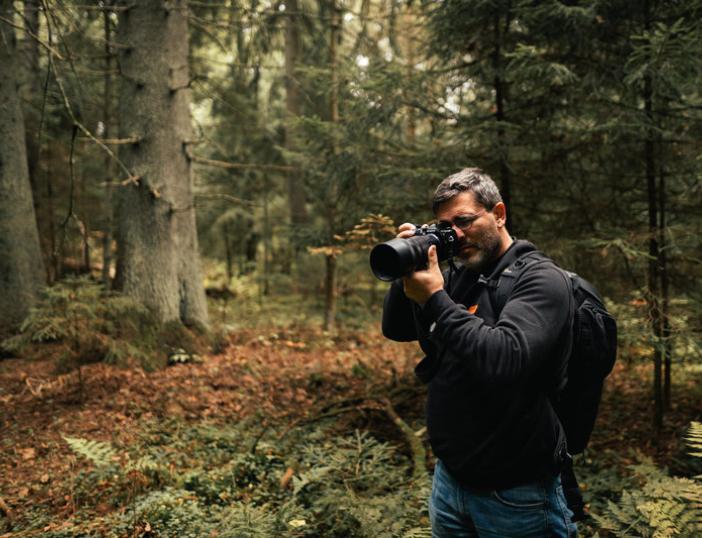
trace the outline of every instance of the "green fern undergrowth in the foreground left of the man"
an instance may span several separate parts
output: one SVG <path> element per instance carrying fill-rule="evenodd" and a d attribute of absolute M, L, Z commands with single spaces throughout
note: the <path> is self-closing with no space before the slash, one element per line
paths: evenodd
<path fill-rule="evenodd" d="M 35 512 L 13 536 L 430 536 L 429 477 L 413 483 L 395 447 L 331 428 L 169 421 L 129 446 L 65 438 L 90 463 L 72 477 L 72 517 Z"/>

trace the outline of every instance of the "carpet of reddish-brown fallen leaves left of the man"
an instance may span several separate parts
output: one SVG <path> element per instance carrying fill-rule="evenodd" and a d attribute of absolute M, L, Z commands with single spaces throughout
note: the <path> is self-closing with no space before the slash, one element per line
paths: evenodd
<path fill-rule="evenodd" d="M 199 364 L 150 373 L 85 365 L 82 395 L 77 374 L 57 376 L 51 360 L 0 363 L 0 430 L 7 440 L 0 445 L 0 491 L 16 513 L 44 503 L 65 515 L 73 502 L 67 477 L 83 463 L 61 435 L 128 444 L 143 421 L 170 417 L 231 421 L 260 413 L 270 422 L 294 422 L 324 402 L 364 393 L 369 381 L 351 374 L 359 359 L 374 381 L 390 383 L 398 371 L 411 375 L 415 355 L 414 347 L 379 332 L 239 331 L 223 353 Z"/>

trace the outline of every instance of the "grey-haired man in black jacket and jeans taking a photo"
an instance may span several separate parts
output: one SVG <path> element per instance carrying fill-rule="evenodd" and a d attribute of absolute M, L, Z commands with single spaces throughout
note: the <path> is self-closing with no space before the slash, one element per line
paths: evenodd
<path fill-rule="evenodd" d="M 433 210 L 455 230 L 462 267 L 444 279 L 430 247 L 428 268 L 394 282 L 383 312 L 385 336 L 418 339 L 426 353 L 416 373 L 429 385 L 438 458 L 432 536 L 576 536 L 559 477 L 565 435 L 549 401 L 572 343 L 570 283 L 550 262 L 531 264 L 495 313 L 489 288 L 535 247 L 509 235 L 500 193 L 477 168 L 443 180 Z M 405 223 L 398 237 L 413 233 Z"/>

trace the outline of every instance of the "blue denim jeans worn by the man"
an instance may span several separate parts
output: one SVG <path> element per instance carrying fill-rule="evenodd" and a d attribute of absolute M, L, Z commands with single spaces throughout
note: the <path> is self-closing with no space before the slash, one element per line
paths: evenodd
<path fill-rule="evenodd" d="M 429 500 L 432 538 L 551 538 L 577 536 L 560 476 L 513 488 L 461 486 L 436 462 Z"/>

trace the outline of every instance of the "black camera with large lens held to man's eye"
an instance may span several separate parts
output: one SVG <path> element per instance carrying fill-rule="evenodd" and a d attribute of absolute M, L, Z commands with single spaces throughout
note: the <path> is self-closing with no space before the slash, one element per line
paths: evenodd
<path fill-rule="evenodd" d="M 426 268 L 431 245 L 436 245 L 439 261 L 448 260 L 457 253 L 458 236 L 448 226 L 417 226 L 412 237 L 397 237 L 373 247 L 371 270 L 380 280 L 391 281 Z"/>

